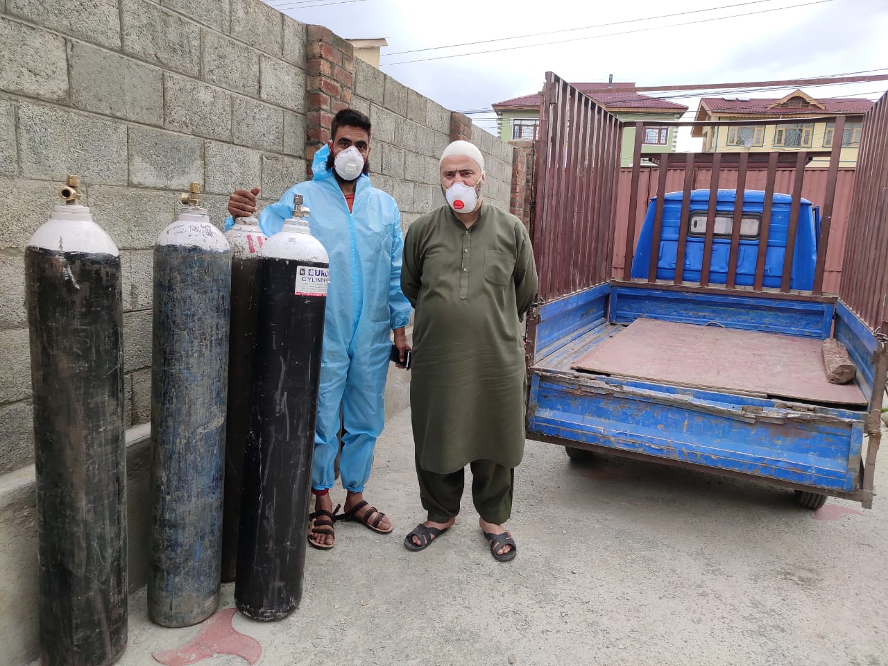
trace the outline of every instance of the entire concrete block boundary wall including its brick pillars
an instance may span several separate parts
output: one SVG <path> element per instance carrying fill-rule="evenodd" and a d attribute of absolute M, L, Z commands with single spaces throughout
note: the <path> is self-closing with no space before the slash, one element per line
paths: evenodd
<path fill-rule="evenodd" d="M 72 12 L 75 12 L 72 15 Z M 332 114 L 374 124 L 371 178 L 403 228 L 443 204 L 438 157 L 452 139 L 485 155 L 485 199 L 510 204 L 512 147 L 361 60 L 326 28 L 259 0 L 0 0 L 0 662 L 36 658 L 33 410 L 25 246 L 68 173 L 123 262 L 131 590 L 147 580 L 153 248 L 192 180 L 222 226 L 227 196 L 260 204 L 305 178 Z M 324 62 L 333 67 L 327 67 Z M 335 84 L 335 85 L 333 85 Z M 327 105 L 324 107 L 324 105 Z M 455 121 L 458 133 L 455 133 Z M 408 405 L 392 369 L 386 413 Z"/>

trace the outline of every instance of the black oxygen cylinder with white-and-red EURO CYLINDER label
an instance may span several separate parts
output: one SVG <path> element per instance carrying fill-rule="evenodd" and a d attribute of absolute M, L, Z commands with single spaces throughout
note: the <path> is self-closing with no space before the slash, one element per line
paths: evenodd
<path fill-rule="evenodd" d="M 234 602 L 242 614 L 260 621 L 286 617 L 302 598 L 329 281 L 327 252 L 309 234 L 308 212 L 297 194 L 293 218 L 259 254 Z"/>

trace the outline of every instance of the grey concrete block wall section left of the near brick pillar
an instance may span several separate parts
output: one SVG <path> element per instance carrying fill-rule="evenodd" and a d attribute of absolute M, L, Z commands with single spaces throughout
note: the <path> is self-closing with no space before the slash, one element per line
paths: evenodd
<path fill-rule="evenodd" d="M 177 194 L 304 178 L 305 25 L 259 0 L 0 3 L 0 473 L 30 464 L 23 251 L 67 173 L 121 250 L 128 425 L 150 409 L 152 263 Z M 12 45 L 15 45 L 14 47 Z"/>

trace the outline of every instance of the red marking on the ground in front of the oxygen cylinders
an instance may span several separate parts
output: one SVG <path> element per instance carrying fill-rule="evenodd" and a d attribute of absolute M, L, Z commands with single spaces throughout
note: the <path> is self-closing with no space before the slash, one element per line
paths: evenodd
<path fill-rule="evenodd" d="M 233 654 L 253 666 L 262 656 L 262 646 L 256 638 L 242 634 L 232 626 L 237 608 L 227 608 L 203 623 L 197 636 L 184 646 L 151 654 L 155 662 L 165 666 L 189 666 L 219 654 Z"/>

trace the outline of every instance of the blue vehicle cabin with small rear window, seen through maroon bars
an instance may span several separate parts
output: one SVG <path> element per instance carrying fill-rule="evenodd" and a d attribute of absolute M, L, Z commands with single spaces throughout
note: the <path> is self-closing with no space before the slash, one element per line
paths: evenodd
<path fill-rule="evenodd" d="M 656 274 L 658 280 L 672 280 L 675 277 L 682 196 L 681 192 L 670 192 L 663 197 L 662 234 Z M 736 200 L 736 190 L 718 190 L 710 267 L 710 283 L 712 284 L 725 284 L 727 279 L 733 211 Z M 743 193 L 740 250 L 737 254 L 736 283 L 738 285 L 751 285 L 755 279 L 758 248 L 762 231 L 765 228 L 762 225 L 764 202 L 765 193 L 761 190 L 746 190 Z M 770 228 L 767 231 L 765 250 L 765 287 L 779 288 L 781 286 L 791 203 L 792 197 L 789 194 L 773 194 Z M 691 193 L 685 245 L 684 279 L 686 281 L 700 281 L 709 205 L 709 190 L 694 190 Z M 636 250 L 635 259 L 632 262 L 633 278 L 646 278 L 648 274 L 650 253 L 653 247 L 655 210 L 656 198 L 653 198 L 647 207 L 641 235 L 638 238 L 638 250 Z M 799 207 L 796 247 L 789 289 L 812 289 L 813 287 L 820 226 L 820 208 L 814 206 L 807 199 L 802 199 Z"/>

